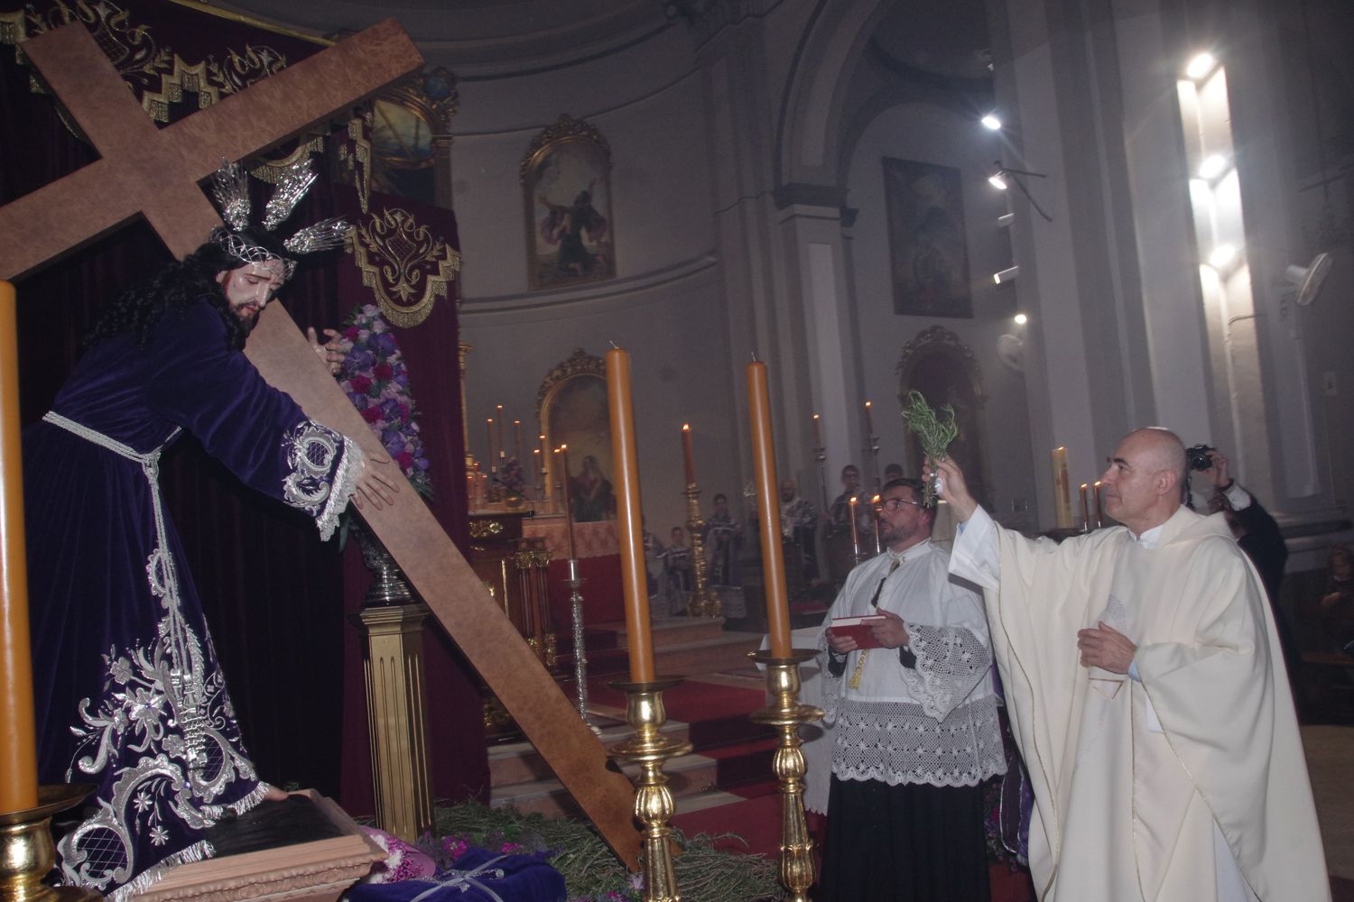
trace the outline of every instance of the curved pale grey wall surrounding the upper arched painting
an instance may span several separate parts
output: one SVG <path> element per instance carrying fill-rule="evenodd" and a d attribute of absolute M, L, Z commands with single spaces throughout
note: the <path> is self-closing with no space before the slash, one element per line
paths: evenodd
<path fill-rule="evenodd" d="M 504 404 L 509 425 L 523 421 L 529 454 L 551 366 L 575 348 L 601 357 L 615 342 L 632 354 L 640 491 L 659 536 L 685 521 L 682 422 L 696 433 L 704 506 L 716 491 L 739 491 L 704 88 L 689 69 L 689 35 L 676 31 L 674 45 L 674 31 L 577 66 L 463 82 L 452 145 L 463 338 L 475 346 L 466 377 L 471 452 L 483 457 L 485 419 Z M 682 42 L 685 62 L 670 53 Z M 611 145 L 617 277 L 529 292 L 519 165 L 561 112 L 586 119 Z"/>

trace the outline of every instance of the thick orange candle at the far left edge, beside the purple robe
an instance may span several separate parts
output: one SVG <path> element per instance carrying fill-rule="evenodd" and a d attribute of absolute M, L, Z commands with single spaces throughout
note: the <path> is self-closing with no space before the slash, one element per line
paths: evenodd
<path fill-rule="evenodd" d="M 19 338 L 14 285 L 0 281 L 0 814 L 38 805 L 28 563 L 23 544 Z"/>

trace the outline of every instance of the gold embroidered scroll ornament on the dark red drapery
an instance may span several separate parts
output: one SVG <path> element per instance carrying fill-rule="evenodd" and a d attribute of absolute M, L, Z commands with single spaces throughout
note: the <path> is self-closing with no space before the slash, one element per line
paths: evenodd
<path fill-rule="evenodd" d="M 447 296 L 460 269 L 460 254 L 398 207 L 359 224 L 352 250 L 380 312 L 405 329 L 428 319 L 433 300 Z"/>

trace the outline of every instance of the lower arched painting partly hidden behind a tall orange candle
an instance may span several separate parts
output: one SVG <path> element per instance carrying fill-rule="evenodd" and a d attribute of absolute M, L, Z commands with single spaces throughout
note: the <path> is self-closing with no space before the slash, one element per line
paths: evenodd
<path fill-rule="evenodd" d="M 551 498 L 567 491 L 574 522 L 615 519 L 611 407 L 603 358 L 578 348 L 551 369 L 536 394 L 536 417 L 547 449 L 569 446 L 566 454 L 551 453 L 546 461 Z"/>

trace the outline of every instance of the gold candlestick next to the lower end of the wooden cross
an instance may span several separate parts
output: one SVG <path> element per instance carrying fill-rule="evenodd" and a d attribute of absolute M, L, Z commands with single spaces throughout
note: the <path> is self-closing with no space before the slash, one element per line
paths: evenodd
<path fill-rule="evenodd" d="M 668 775 L 663 761 L 678 755 L 691 753 L 691 742 L 678 741 L 662 734 L 668 713 L 663 710 L 663 690 L 681 683 L 680 676 L 661 676 L 643 683 L 612 680 L 615 690 L 626 694 L 626 722 L 635 734 L 611 746 L 611 756 L 617 761 L 639 764 L 639 782 L 635 788 L 635 820 L 643 825 L 645 851 L 645 902 L 678 902 L 677 875 L 673 872 L 673 856 L 669 845 L 672 828 L 668 821 L 673 815 L 673 794 L 668 788 Z M 803 811 L 800 811 L 803 820 Z"/>

